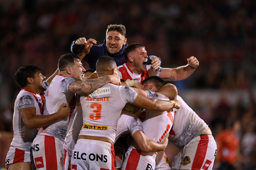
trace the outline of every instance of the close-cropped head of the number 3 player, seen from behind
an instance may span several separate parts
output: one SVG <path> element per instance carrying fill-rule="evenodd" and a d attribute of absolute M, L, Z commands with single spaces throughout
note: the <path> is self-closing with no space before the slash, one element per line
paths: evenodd
<path fill-rule="evenodd" d="M 117 75 L 117 66 L 115 60 L 109 56 L 102 56 L 96 62 L 96 70 L 98 77 L 106 75 Z"/>

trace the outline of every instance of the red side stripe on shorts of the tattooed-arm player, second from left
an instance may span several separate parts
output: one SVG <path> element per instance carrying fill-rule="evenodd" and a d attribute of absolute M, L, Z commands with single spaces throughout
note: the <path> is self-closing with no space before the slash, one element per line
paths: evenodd
<path fill-rule="evenodd" d="M 52 136 L 44 136 L 44 152 L 45 152 L 45 161 L 46 169 L 57 170 L 57 156 L 56 156 L 56 146 L 55 138 Z"/>

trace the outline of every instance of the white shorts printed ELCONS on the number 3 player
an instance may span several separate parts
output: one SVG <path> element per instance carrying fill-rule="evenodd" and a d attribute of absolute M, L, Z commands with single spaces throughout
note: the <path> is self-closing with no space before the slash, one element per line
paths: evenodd
<path fill-rule="evenodd" d="M 78 139 L 72 151 L 71 170 L 115 170 L 114 146 L 98 140 Z"/>

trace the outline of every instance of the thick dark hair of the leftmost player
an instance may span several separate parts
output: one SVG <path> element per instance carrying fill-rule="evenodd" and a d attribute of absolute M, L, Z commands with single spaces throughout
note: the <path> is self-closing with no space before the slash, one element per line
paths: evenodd
<path fill-rule="evenodd" d="M 41 69 L 34 64 L 18 68 L 14 75 L 14 78 L 18 83 L 19 87 L 24 88 L 28 83 L 27 78 L 35 78 L 35 74 L 37 71 L 41 72 Z"/>

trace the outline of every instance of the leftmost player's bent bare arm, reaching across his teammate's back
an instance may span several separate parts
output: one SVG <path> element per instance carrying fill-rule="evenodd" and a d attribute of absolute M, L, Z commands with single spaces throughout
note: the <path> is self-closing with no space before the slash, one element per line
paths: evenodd
<path fill-rule="evenodd" d="M 21 116 L 25 125 L 29 129 L 41 128 L 69 116 L 69 106 L 62 104 L 58 111 L 49 115 L 36 115 L 36 108 L 22 108 Z"/>

